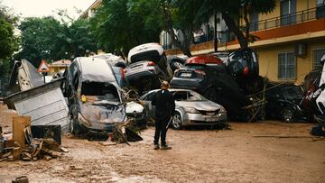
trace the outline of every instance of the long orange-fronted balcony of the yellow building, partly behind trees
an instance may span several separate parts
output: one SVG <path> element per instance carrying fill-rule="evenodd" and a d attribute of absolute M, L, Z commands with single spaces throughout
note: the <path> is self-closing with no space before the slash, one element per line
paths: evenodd
<path fill-rule="evenodd" d="M 292 36 L 305 32 L 318 32 L 325 30 L 323 25 L 325 21 L 321 18 L 325 18 L 325 5 L 296 12 L 295 14 L 287 14 L 251 23 L 250 32 L 260 37 L 259 41 Z M 203 44 L 207 44 L 203 47 L 212 46 L 211 48 L 213 48 L 213 32 L 213 28 L 209 29 L 208 32 L 201 35 L 197 41 L 192 42 L 190 47 L 193 50 L 200 50 Z M 220 44 L 218 46 L 237 44 L 236 36 L 233 32 L 217 32 L 217 38 L 218 44 Z M 163 45 L 163 47 L 166 50 L 176 48 L 172 44 Z"/>

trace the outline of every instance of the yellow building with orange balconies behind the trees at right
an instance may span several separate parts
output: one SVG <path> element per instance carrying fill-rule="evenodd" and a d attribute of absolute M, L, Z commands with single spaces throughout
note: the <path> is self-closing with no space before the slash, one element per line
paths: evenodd
<path fill-rule="evenodd" d="M 300 84 L 325 54 L 325 0 L 277 0 L 274 12 L 251 14 L 250 19 L 251 33 L 260 38 L 249 46 L 257 51 L 261 76 Z M 213 45 L 207 41 L 190 48 L 193 55 L 203 54 L 213 51 Z M 238 48 L 237 40 L 218 43 L 218 50 Z M 166 52 L 181 54 L 178 49 Z"/>

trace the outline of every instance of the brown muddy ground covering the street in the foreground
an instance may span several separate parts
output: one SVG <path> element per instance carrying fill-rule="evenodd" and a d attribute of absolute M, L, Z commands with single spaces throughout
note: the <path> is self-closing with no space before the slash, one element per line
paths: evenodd
<path fill-rule="evenodd" d="M 153 150 L 153 127 L 130 146 L 66 135 L 69 152 L 56 160 L 0 162 L 0 182 L 22 175 L 30 182 L 325 182 L 325 141 L 309 134 L 315 124 L 230 124 L 169 130 L 171 151 Z"/>

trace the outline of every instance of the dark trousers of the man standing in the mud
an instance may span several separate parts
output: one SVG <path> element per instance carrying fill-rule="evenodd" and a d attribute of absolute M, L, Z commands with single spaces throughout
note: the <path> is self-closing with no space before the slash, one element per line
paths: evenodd
<path fill-rule="evenodd" d="M 159 136 L 161 136 L 162 145 L 166 145 L 166 133 L 167 124 L 170 120 L 170 116 L 155 116 L 155 132 L 154 132 L 154 144 L 158 144 Z"/>

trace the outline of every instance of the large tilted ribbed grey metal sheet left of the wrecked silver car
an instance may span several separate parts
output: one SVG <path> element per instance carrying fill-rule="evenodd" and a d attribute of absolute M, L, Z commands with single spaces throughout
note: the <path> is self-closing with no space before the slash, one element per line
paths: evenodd
<path fill-rule="evenodd" d="M 32 117 L 32 125 L 60 125 L 69 131 L 69 108 L 60 90 L 60 80 L 8 96 L 5 103 L 20 115 Z"/>

